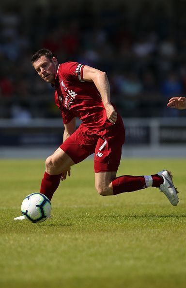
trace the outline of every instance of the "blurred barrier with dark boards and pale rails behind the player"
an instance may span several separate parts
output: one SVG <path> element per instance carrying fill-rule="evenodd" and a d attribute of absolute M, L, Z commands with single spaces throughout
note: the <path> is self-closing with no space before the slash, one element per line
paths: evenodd
<path fill-rule="evenodd" d="M 123 121 L 124 157 L 186 157 L 186 117 Z M 0 158 L 45 158 L 62 143 L 62 134 L 61 119 L 0 120 Z"/>

